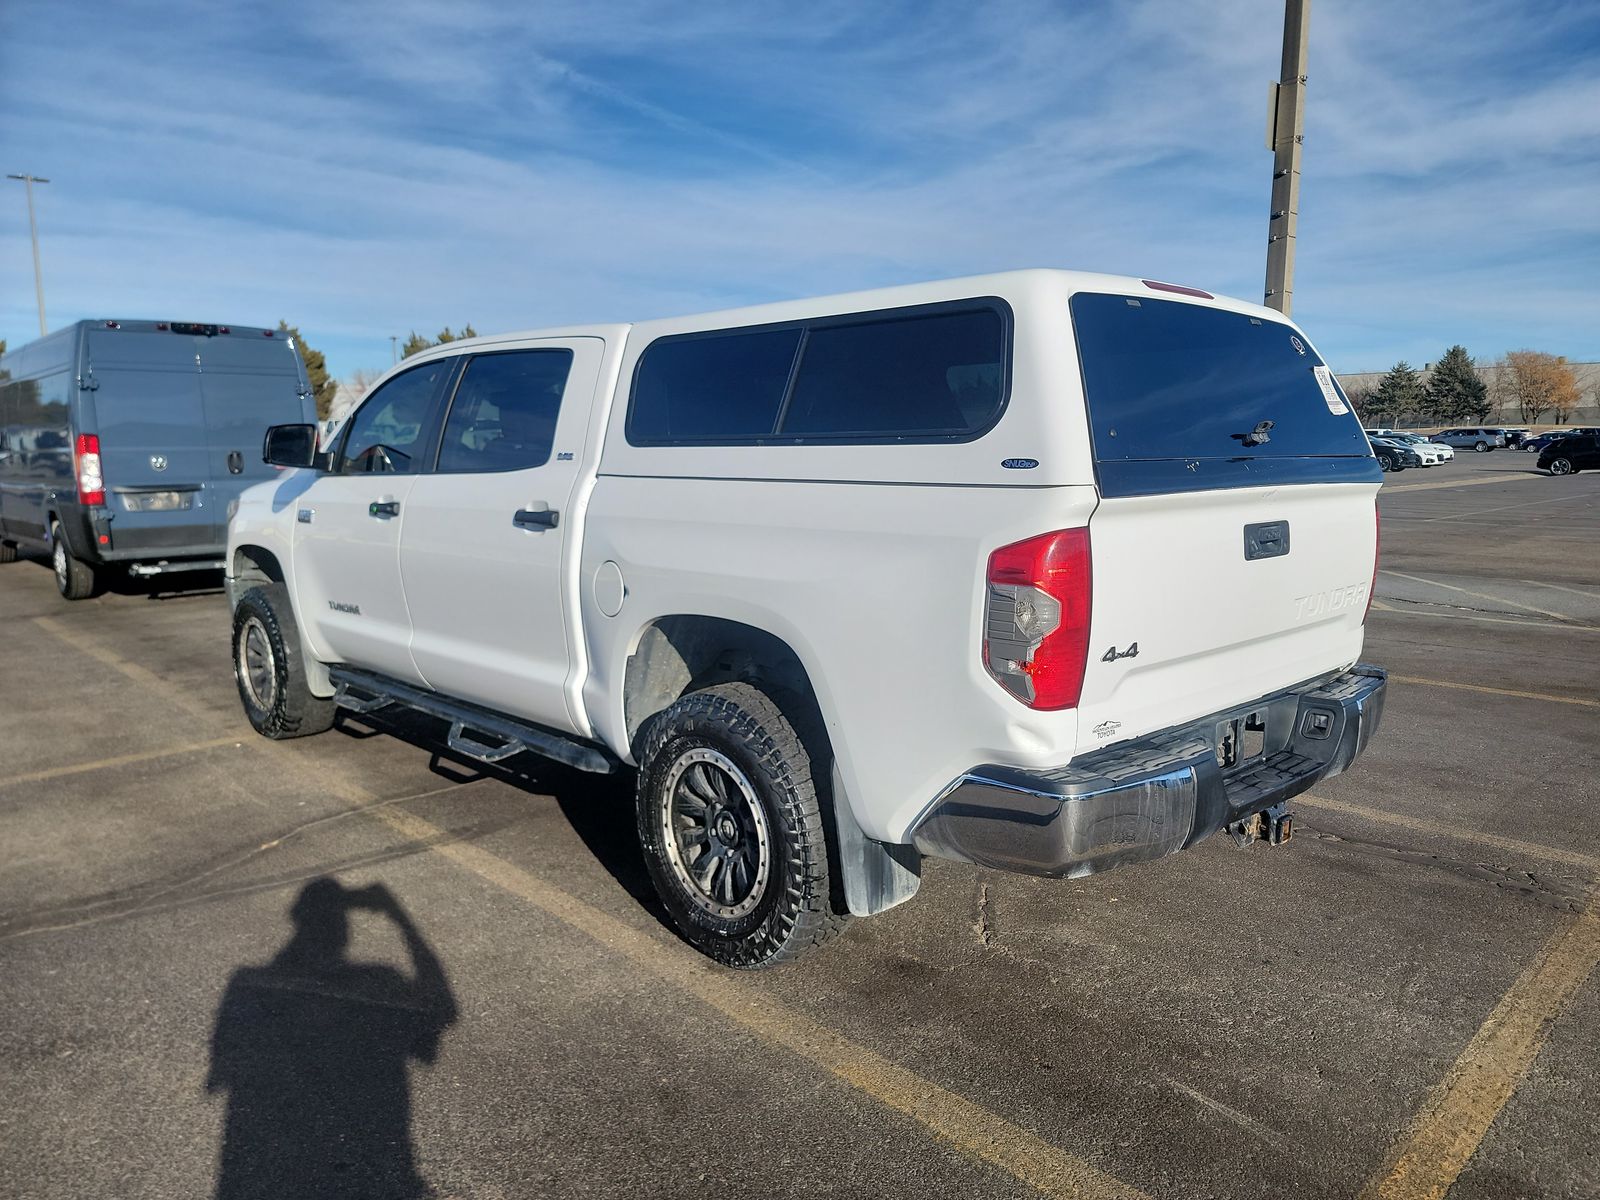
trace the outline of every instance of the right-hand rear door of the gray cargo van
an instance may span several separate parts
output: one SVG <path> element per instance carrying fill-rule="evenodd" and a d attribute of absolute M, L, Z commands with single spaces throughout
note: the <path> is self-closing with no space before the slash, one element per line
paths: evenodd
<path fill-rule="evenodd" d="M 206 482 L 218 539 L 227 541 L 227 502 L 243 488 L 272 478 L 261 461 L 269 426 L 315 421 L 299 350 L 288 334 L 234 328 L 197 338 L 205 408 Z"/>

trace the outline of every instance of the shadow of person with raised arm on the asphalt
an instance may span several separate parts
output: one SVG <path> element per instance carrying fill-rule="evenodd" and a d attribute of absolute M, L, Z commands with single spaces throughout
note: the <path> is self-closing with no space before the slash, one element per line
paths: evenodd
<path fill-rule="evenodd" d="M 410 976 L 352 962 L 350 912 L 386 915 Z M 227 1093 L 218 1200 L 434 1195 L 411 1147 L 410 1064 L 434 1062 L 458 1016 L 445 968 L 382 885 L 315 878 L 274 958 L 229 979 L 208 1091 Z"/>

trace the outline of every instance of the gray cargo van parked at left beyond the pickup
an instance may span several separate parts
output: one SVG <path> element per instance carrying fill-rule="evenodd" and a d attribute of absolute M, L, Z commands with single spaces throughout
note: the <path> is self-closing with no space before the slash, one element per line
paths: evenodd
<path fill-rule="evenodd" d="M 0 357 L 0 562 L 99 574 L 221 568 L 229 502 L 270 478 L 267 426 L 315 421 L 278 330 L 85 320 Z"/>

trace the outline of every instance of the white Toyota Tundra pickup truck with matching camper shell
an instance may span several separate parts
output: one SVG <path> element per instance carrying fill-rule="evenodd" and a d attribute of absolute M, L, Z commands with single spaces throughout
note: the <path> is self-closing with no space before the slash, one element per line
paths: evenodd
<path fill-rule="evenodd" d="M 1342 771 L 1371 448 L 1282 314 L 1022 270 L 406 358 L 230 523 L 258 731 L 638 771 L 685 936 L 792 958 L 922 858 L 1080 877 Z"/>

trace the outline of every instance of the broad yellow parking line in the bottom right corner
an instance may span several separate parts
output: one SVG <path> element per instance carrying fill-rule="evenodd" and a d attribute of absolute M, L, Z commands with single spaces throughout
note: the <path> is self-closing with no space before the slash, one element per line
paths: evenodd
<path fill-rule="evenodd" d="M 1600 965 L 1600 888 L 1517 976 L 1360 1200 L 1442 1200 L 1544 1048 L 1550 1027 Z"/>

